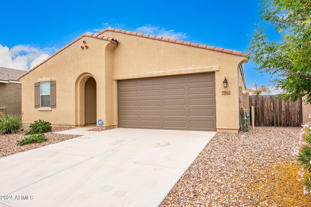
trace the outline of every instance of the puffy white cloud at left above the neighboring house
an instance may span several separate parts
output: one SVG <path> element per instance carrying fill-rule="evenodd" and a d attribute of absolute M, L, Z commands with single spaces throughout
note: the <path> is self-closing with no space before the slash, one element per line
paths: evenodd
<path fill-rule="evenodd" d="M 29 70 L 55 52 L 55 48 L 39 49 L 28 45 L 13 48 L 0 45 L 0 66 L 18 70 Z"/>

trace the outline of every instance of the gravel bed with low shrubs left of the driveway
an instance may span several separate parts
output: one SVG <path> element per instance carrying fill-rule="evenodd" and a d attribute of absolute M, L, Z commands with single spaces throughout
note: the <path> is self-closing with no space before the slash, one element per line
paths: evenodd
<path fill-rule="evenodd" d="M 30 149 L 35 149 L 41 146 L 49 145 L 52 143 L 58 143 L 62 142 L 65 140 L 69 140 L 72 138 L 80 137 L 80 135 L 68 135 L 68 134 L 55 134 L 53 132 L 57 131 L 64 131 L 64 130 L 69 130 L 73 129 L 74 127 L 52 127 L 52 132 L 47 132 L 44 133 L 45 136 L 48 138 L 47 142 L 43 143 L 31 143 L 31 144 L 26 144 L 22 146 L 17 146 L 17 140 L 21 140 L 24 137 L 24 133 L 29 130 L 29 127 L 24 126 L 22 130 L 20 130 L 16 134 L 5 134 L 5 135 L 0 135 L 0 158 L 17 154 L 20 152 L 24 152 Z"/>

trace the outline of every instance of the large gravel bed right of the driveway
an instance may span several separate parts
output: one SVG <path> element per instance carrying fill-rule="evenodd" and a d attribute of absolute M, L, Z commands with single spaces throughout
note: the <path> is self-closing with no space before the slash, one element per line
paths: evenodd
<path fill-rule="evenodd" d="M 217 133 L 161 206 L 288 206 L 269 205 L 269 197 L 258 195 L 250 184 L 258 183 L 258 175 L 277 163 L 295 164 L 291 152 L 299 131 L 300 127 L 256 127 L 239 134 Z"/>

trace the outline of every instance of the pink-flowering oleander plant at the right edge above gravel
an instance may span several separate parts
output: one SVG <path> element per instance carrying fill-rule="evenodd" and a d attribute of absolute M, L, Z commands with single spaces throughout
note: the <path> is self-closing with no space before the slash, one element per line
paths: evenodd
<path fill-rule="evenodd" d="M 309 118 L 311 118 L 311 114 Z M 299 140 L 293 152 L 298 165 L 302 166 L 298 172 L 298 180 L 304 182 L 304 193 L 311 196 L 311 122 L 302 126 L 298 137 Z"/>

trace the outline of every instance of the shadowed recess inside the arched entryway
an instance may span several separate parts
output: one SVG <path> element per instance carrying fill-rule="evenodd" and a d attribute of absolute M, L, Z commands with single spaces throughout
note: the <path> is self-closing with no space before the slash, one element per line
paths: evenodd
<path fill-rule="evenodd" d="M 86 80 L 84 86 L 85 125 L 96 123 L 96 81 L 93 77 Z"/>

